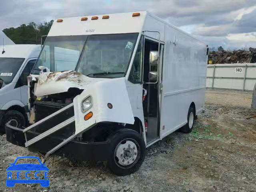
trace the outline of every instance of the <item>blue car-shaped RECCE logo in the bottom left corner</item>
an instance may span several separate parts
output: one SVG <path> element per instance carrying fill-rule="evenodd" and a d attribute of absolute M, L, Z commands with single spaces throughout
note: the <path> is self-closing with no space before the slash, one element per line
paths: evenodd
<path fill-rule="evenodd" d="M 18 160 L 21 159 L 36 159 L 39 161 L 39 164 L 16 164 Z M 50 185 L 50 180 L 48 178 L 49 169 L 46 167 L 46 164 L 42 164 L 38 157 L 18 157 L 13 164 L 10 164 L 10 167 L 6 169 L 7 171 L 7 187 L 14 187 L 16 183 L 22 184 L 34 184 L 40 183 L 42 187 L 48 187 Z M 25 175 L 21 174 L 26 172 Z M 36 171 L 32 173 L 30 171 Z M 40 179 L 38 176 L 44 172 L 44 179 Z M 42 177 L 42 176 L 41 176 Z M 24 179 L 23 179 L 24 178 Z M 26 179 L 25 179 L 26 178 Z M 31 179 L 30 179 L 31 178 Z"/>

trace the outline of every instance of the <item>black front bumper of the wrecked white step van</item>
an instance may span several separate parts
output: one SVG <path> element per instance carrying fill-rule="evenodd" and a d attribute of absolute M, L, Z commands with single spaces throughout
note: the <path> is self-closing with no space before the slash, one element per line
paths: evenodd
<path fill-rule="evenodd" d="M 26 140 L 22 129 L 13 129 L 8 126 L 6 126 L 5 129 L 6 140 L 8 142 L 25 147 Z M 28 150 L 46 153 L 49 151 L 49 148 L 54 148 L 56 143 L 62 141 L 61 138 L 56 137 L 51 139 L 48 138 L 47 140 L 43 139 L 29 146 Z M 75 138 L 57 150 L 54 154 L 85 161 L 106 161 L 110 154 L 110 142 L 85 142 L 77 141 Z"/>

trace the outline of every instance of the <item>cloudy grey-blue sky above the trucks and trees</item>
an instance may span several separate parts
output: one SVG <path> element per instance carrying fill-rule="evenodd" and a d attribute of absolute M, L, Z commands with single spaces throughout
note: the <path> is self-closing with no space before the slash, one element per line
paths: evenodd
<path fill-rule="evenodd" d="M 210 47 L 256 48 L 256 0 L 0 1 L 0 29 L 63 17 L 147 10 Z"/>

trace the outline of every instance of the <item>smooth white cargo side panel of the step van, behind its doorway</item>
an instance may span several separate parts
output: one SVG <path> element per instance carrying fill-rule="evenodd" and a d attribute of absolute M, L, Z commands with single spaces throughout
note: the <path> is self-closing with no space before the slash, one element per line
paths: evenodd
<path fill-rule="evenodd" d="M 206 83 L 205 45 L 189 35 L 165 26 L 162 137 L 187 123 L 188 108 L 194 102 L 196 113 L 204 107 Z"/>

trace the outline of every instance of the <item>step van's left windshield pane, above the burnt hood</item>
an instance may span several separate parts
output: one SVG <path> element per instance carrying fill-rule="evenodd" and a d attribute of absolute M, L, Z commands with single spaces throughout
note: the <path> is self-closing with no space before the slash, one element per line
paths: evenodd
<path fill-rule="evenodd" d="M 39 74 L 39 66 L 45 66 L 52 72 L 75 70 L 86 38 L 82 35 L 47 37 L 32 74 Z"/>

